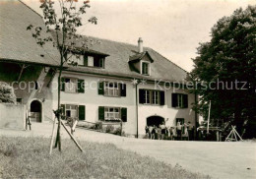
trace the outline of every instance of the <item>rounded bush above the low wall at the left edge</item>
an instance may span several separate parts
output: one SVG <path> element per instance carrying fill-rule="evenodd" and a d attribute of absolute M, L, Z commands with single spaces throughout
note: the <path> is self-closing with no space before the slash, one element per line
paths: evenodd
<path fill-rule="evenodd" d="M 16 103 L 14 89 L 7 83 L 0 82 L 0 103 Z"/>

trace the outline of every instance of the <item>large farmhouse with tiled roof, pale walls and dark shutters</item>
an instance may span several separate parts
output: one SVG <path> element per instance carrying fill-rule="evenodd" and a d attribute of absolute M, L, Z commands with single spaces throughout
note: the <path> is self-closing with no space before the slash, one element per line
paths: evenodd
<path fill-rule="evenodd" d="M 31 24 L 45 28 L 42 18 L 21 1 L 0 2 L 0 81 L 14 87 L 17 102 L 26 105 L 32 122 L 45 123 L 57 108 L 59 54 L 52 44 L 36 45 L 27 30 Z M 84 38 L 97 42 L 77 54 L 77 65 L 68 63 L 62 73 L 66 116 L 106 124 L 122 120 L 125 134 L 139 137 L 145 135 L 146 125 L 196 125 L 191 110 L 196 96 L 184 86 L 177 88 L 185 82 L 183 69 L 144 47 L 142 38 L 136 45 Z"/>

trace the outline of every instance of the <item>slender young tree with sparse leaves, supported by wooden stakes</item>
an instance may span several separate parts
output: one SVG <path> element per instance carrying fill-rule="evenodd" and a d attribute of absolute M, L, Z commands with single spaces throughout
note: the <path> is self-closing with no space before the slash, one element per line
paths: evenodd
<path fill-rule="evenodd" d="M 58 119 L 56 146 L 61 151 L 61 139 L 60 139 L 60 127 L 61 127 L 61 106 L 60 106 L 60 90 L 61 90 L 61 74 L 64 64 L 72 57 L 67 56 L 67 53 L 77 56 L 78 52 L 83 52 L 84 49 L 89 48 L 93 43 L 89 43 L 87 40 L 83 40 L 83 43 L 78 47 L 77 42 L 82 35 L 77 34 L 77 29 L 83 26 L 83 15 L 86 14 L 86 10 L 90 8 L 90 1 L 78 0 L 39 0 L 40 8 L 43 12 L 43 20 L 46 26 L 46 32 L 48 36 L 42 36 L 41 31 L 43 27 L 34 27 L 30 25 L 27 30 L 32 30 L 32 37 L 36 43 L 43 47 L 46 42 L 52 41 L 50 32 L 53 32 L 56 39 L 53 41 L 53 47 L 56 47 L 59 51 L 59 65 L 58 65 L 58 108 L 54 111 L 56 118 Z M 57 2 L 56 4 L 54 2 Z M 82 3 L 82 4 L 81 4 Z M 60 13 L 57 13 L 58 10 Z M 92 17 L 88 20 L 88 23 L 96 25 L 96 17 Z M 78 57 L 77 57 L 78 58 Z M 75 61 L 73 65 L 77 65 Z M 55 122 L 54 122 L 55 123 Z M 50 150 L 51 153 L 51 150 Z"/>

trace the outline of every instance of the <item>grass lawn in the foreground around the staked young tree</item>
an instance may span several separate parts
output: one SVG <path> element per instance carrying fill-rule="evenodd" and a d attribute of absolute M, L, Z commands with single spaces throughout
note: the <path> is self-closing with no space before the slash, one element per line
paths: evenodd
<path fill-rule="evenodd" d="M 0 178 L 210 178 L 171 167 L 110 144 L 62 140 L 60 153 L 49 139 L 0 137 Z"/>

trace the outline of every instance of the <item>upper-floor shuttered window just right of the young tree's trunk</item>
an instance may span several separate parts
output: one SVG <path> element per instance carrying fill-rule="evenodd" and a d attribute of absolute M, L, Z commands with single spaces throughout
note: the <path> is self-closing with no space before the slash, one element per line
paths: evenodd
<path fill-rule="evenodd" d="M 85 81 L 75 78 L 62 78 L 61 79 L 61 90 L 70 93 L 84 93 L 85 92 Z"/>

